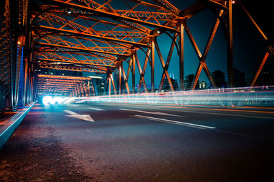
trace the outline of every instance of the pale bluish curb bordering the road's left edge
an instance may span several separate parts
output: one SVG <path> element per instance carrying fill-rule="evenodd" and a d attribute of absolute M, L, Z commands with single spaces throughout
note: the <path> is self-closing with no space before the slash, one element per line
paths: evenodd
<path fill-rule="evenodd" d="M 0 128 L 0 148 L 5 144 L 6 141 L 12 136 L 18 125 L 23 121 L 29 110 L 32 109 L 35 103 L 31 104 L 28 108 L 25 108 L 21 112 L 14 115 L 9 121 Z"/>

